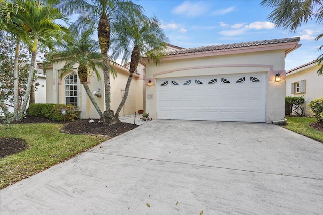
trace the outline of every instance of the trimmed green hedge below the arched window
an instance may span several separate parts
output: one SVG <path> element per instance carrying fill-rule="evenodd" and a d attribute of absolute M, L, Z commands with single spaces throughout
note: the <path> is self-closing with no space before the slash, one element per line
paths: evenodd
<path fill-rule="evenodd" d="M 66 110 L 66 121 L 74 121 L 80 118 L 80 111 L 77 107 L 66 104 L 29 104 L 28 114 L 44 116 L 54 121 L 63 121 L 62 109 Z"/>

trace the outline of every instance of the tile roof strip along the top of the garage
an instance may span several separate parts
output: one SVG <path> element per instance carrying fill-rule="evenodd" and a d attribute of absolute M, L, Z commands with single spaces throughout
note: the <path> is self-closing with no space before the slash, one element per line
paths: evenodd
<path fill-rule="evenodd" d="M 233 44 L 225 44 L 225 45 L 202 46 L 197 48 L 188 48 L 188 49 L 182 49 L 179 51 L 169 52 L 164 54 L 164 56 L 198 53 L 198 52 L 206 52 L 206 51 L 217 51 L 217 50 L 234 49 L 234 48 L 245 48 L 245 47 L 261 46 L 261 45 L 272 45 L 272 44 L 298 42 L 298 41 L 300 41 L 299 37 L 293 37 L 293 38 L 283 38 L 283 39 L 273 39 L 273 40 L 261 40 L 261 41 L 254 41 L 254 42 L 233 43 Z"/>

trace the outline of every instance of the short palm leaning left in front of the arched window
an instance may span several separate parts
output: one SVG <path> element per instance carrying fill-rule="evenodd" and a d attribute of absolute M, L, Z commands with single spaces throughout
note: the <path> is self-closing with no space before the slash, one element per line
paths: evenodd
<path fill-rule="evenodd" d="M 77 29 L 74 28 L 71 34 L 67 35 L 66 42 L 62 43 L 58 50 L 49 53 L 46 64 L 65 62 L 64 67 L 61 69 L 61 78 L 65 71 L 70 70 L 75 64 L 78 64 L 77 72 L 79 80 L 84 86 L 96 111 L 103 118 L 103 113 L 87 84 L 90 71 L 95 73 L 98 80 L 101 78 L 97 68 L 102 68 L 102 55 L 98 52 L 99 47 L 97 41 L 91 39 L 92 34 L 93 31 L 91 29 L 84 29 L 79 34 Z"/>

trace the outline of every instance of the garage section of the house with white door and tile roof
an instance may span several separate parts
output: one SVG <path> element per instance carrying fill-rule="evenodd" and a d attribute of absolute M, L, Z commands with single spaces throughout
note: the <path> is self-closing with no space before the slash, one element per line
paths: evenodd
<path fill-rule="evenodd" d="M 145 110 L 157 119 L 282 122 L 285 57 L 299 40 L 173 46 L 159 65 L 144 61 Z M 275 82 L 276 74 L 282 81 Z"/>

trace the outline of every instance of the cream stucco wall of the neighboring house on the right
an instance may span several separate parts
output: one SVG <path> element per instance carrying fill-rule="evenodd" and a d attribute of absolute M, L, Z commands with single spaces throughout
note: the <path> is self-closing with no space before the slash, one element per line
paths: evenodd
<path fill-rule="evenodd" d="M 317 75 L 318 66 L 312 65 L 286 74 L 286 96 L 304 96 L 305 115 L 311 116 L 308 103 L 313 99 L 323 97 L 323 76 Z M 292 83 L 306 80 L 305 93 L 292 94 Z"/>

